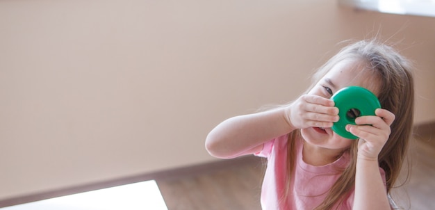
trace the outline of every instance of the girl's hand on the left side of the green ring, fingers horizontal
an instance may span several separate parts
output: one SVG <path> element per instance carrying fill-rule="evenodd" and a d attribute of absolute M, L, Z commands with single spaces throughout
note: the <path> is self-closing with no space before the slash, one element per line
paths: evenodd
<path fill-rule="evenodd" d="M 332 127 L 339 120 L 334 101 L 318 95 L 302 95 L 286 107 L 286 120 L 290 127 Z"/>

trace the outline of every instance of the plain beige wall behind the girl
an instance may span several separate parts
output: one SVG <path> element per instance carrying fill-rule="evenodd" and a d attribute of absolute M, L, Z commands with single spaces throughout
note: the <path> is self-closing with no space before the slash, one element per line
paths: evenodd
<path fill-rule="evenodd" d="M 294 99 L 346 39 L 415 61 L 435 120 L 435 19 L 335 1 L 0 1 L 0 200 L 213 161 L 218 122 Z"/>

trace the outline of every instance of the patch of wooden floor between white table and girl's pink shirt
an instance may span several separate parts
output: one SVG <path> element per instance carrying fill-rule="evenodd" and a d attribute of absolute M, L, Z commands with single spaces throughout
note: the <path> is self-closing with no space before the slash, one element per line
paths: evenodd
<path fill-rule="evenodd" d="M 181 179 L 157 180 L 157 184 L 169 210 L 259 210 L 264 164 L 253 157 L 243 164 L 211 168 Z"/>

